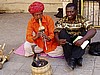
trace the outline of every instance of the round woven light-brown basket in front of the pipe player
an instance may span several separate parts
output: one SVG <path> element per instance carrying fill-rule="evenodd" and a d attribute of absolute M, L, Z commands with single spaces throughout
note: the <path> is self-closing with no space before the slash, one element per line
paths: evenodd
<path fill-rule="evenodd" d="M 43 67 L 34 67 L 31 65 L 32 75 L 52 75 L 52 68 L 49 63 Z"/>

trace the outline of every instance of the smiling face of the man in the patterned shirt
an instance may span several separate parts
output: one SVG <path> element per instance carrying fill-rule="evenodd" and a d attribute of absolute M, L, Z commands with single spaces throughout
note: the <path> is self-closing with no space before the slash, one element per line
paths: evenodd
<path fill-rule="evenodd" d="M 66 9 L 66 16 L 68 16 L 69 20 L 74 20 L 76 17 L 77 11 L 74 9 L 74 7 L 67 7 Z"/>

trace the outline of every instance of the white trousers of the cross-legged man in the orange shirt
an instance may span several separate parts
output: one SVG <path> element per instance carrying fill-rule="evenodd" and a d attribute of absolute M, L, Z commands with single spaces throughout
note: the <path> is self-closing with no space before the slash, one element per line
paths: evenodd
<path fill-rule="evenodd" d="M 35 44 L 29 43 L 28 41 L 26 41 L 24 43 L 25 56 L 31 56 L 31 55 L 34 54 L 33 51 L 32 51 L 31 45 L 35 45 Z M 43 51 L 43 49 L 41 49 L 38 46 L 35 46 L 34 51 L 35 51 L 35 53 L 41 53 Z M 63 56 L 63 49 L 62 49 L 61 46 L 57 46 L 57 48 L 54 51 L 48 52 L 46 54 L 48 54 L 51 57 Z"/>

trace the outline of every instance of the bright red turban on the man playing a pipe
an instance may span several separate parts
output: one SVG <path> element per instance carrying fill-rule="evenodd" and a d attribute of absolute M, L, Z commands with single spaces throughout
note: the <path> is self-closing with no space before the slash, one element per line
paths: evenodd
<path fill-rule="evenodd" d="M 41 2 L 33 2 L 30 6 L 29 6 L 29 12 L 32 13 L 37 13 L 37 12 L 41 12 L 44 10 L 44 5 Z"/>

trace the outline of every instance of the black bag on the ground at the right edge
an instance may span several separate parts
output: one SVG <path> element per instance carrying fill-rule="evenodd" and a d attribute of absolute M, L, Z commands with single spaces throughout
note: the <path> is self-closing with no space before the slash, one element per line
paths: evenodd
<path fill-rule="evenodd" d="M 90 44 L 89 54 L 100 56 L 100 42 L 93 42 Z"/>

